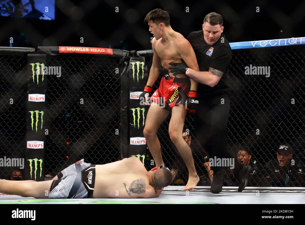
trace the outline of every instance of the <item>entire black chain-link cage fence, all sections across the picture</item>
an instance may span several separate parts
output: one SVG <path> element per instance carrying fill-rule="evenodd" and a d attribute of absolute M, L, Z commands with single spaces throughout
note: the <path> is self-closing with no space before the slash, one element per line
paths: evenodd
<path fill-rule="evenodd" d="M 292 158 L 304 163 L 304 56 L 303 46 L 232 51 L 228 147 L 237 152 L 242 146 L 251 152 L 251 162 L 260 165 L 256 181 L 248 186 L 266 186 L 264 165 L 277 159 L 279 144 L 290 143 L 294 150 Z M 0 158 L 24 157 L 26 60 L 26 56 L 0 56 Z M 146 62 L 149 71 L 152 57 L 146 57 Z M 48 76 L 46 173 L 54 176 L 81 158 L 95 164 L 117 161 L 120 157 L 119 60 L 92 55 L 49 56 L 48 65 L 60 66 L 61 76 Z M 270 66 L 270 77 L 245 75 L 245 67 L 250 65 Z M 160 78 L 153 90 L 159 81 Z M 179 168 L 173 185 L 185 185 L 188 173 L 170 141 L 169 121 L 170 115 L 158 131 L 163 160 L 168 167 Z M 200 185 L 209 185 L 203 165 L 203 159 L 209 155 L 195 138 L 189 114 L 185 127 L 192 136 L 190 147 L 201 177 Z M 152 159 L 149 152 L 147 155 Z M 0 178 L 9 178 L 13 169 L 0 167 Z M 229 170 L 226 170 L 224 185 L 237 185 L 236 177 Z M 292 186 L 303 184 L 296 182 Z"/>

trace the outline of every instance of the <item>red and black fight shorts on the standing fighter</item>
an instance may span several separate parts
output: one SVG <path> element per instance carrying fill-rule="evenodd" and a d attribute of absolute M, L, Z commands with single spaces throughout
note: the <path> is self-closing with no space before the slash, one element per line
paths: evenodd
<path fill-rule="evenodd" d="M 188 99 L 187 93 L 189 88 L 189 78 L 178 78 L 165 75 L 161 79 L 159 88 L 152 94 L 150 99 L 158 105 L 161 105 L 161 107 L 165 104 L 164 108 L 171 111 L 172 107 L 179 104 L 185 106 Z"/>

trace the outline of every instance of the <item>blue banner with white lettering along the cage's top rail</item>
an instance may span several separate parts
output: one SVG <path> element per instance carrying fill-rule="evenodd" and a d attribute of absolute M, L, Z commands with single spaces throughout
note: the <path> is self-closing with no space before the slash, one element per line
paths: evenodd
<path fill-rule="evenodd" d="M 305 37 L 299 38 L 286 38 L 286 39 L 272 39 L 262 41 L 242 41 L 230 43 L 231 49 L 243 49 L 243 48 L 266 48 L 266 47 L 278 47 L 278 46 L 290 46 L 305 44 Z"/>

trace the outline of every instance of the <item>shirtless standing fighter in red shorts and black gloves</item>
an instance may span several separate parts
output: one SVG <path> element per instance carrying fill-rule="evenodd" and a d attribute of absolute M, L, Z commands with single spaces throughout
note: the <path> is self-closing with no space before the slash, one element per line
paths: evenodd
<path fill-rule="evenodd" d="M 175 32 L 170 26 L 170 17 L 167 11 L 154 9 L 150 11 L 144 20 L 149 25 L 149 31 L 154 35 L 152 39 L 152 67 L 149 78 L 140 95 L 145 103 L 149 102 L 152 85 L 156 82 L 160 74 L 160 65 L 168 69 L 170 62 L 181 62 L 181 58 L 194 70 L 199 70 L 196 55 L 191 44 L 180 33 Z M 186 101 L 196 94 L 198 82 L 191 80 L 183 73 L 173 76 L 172 73 L 165 75 L 160 82 L 159 88 L 152 94 L 149 111 L 144 127 L 144 136 L 151 152 L 156 167 L 162 166 L 161 146 L 157 137 L 157 131 L 167 117 L 172 113 L 168 132 L 170 140 L 178 149 L 184 160 L 189 173 L 188 183 L 184 190 L 194 189 L 199 182 L 192 151 L 181 136 L 185 116 L 187 113 Z M 191 87 L 189 87 L 189 82 Z M 190 88 L 190 89 L 189 89 Z M 189 91 L 191 90 L 191 91 Z M 188 95 L 187 95 L 188 94 Z M 162 101 L 163 100 L 163 101 Z M 160 106 L 160 102 L 165 103 L 165 108 Z"/>

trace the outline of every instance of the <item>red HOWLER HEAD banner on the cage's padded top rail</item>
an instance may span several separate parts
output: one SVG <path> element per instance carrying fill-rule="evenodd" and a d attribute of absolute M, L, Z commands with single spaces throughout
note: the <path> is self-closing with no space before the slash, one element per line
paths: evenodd
<path fill-rule="evenodd" d="M 82 54 L 112 55 L 113 51 L 112 51 L 111 48 L 59 46 L 59 53 L 82 53 Z"/>

